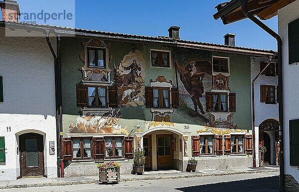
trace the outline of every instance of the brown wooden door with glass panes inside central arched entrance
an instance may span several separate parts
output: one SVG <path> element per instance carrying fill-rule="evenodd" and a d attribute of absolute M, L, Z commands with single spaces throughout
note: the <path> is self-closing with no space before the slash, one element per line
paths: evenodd
<path fill-rule="evenodd" d="M 173 169 L 172 135 L 157 135 L 157 169 Z"/>

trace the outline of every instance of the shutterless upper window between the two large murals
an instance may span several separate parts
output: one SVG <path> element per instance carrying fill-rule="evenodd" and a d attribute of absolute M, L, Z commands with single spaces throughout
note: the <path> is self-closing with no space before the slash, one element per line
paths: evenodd
<path fill-rule="evenodd" d="M 151 51 L 151 66 L 152 67 L 170 67 L 169 52 L 166 51 Z"/>

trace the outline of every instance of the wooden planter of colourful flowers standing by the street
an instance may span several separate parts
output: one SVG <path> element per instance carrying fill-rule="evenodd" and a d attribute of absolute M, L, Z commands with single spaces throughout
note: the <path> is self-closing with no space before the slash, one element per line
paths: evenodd
<path fill-rule="evenodd" d="M 109 162 L 99 163 L 97 168 L 99 169 L 99 181 L 102 183 L 119 183 L 120 177 L 120 167 L 119 163 L 111 162 L 111 157 L 113 156 L 113 146 L 109 146 L 107 143 L 106 151 L 109 155 Z"/>

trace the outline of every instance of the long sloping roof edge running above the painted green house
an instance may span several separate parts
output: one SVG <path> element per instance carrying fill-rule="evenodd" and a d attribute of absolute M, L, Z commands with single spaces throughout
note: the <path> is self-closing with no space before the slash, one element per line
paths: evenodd
<path fill-rule="evenodd" d="M 17 23 L 17 22 L 7 22 L 7 21 L 0 21 L 0 27 L 34 30 L 34 31 L 41 31 L 41 32 L 44 32 L 45 29 L 48 29 L 50 30 L 50 32 L 62 36 L 75 35 L 77 37 L 87 37 L 87 38 L 98 37 L 98 38 L 111 39 L 116 41 L 129 41 L 129 42 L 138 41 L 138 42 L 149 43 L 149 44 L 157 43 L 157 44 L 164 44 L 173 47 L 185 47 L 185 48 L 192 48 L 192 49 L 245 54 L 245 55 L 252 55 L 252 56 L 276 55 L 276 52 L 273 50 L 252 49 L 246 47 L 229 46 L 229 45 L 180 40 L 180 39 L 175 40 L 170 37 L 163 37 L 163 36 L 153 37 L 153 36 L 115 33 L 115 32 L 106 32 L 106 31 L 63 27 L 63 26 L 28 24 L 28 23 L 20 23 L 20 22 Z"/>

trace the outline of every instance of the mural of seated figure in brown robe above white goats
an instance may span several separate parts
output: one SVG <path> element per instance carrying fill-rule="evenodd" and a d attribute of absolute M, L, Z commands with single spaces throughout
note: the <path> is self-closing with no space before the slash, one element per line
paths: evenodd
<path fill-rule="evenodd" d="M 119 67 L 114 65 L 114 81 L 122 107 L 145 104 L 145 59 L 139 50 L 126 55 Z"/>

